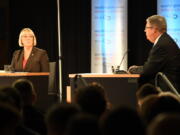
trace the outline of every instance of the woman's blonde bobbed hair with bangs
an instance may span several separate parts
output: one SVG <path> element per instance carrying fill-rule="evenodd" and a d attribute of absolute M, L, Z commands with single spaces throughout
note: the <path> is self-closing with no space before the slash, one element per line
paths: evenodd
<path fill-rule="evenodd" d="M 23 28 L 21 30 L 21 32 L 19 34 L 19 40 L 18 40 L 19 46 L 21 46 L 21 47 L 23 46 L 21 39 L 22 39 L 22 35 L 24 34 L 24 32 L 29 32 L 29 33 L 32 34 L 32 36 L 33 36 L 33 46 L 36 46 L 36 43 L 37 43 L 36 36 L 35 36 L 34 32 L 30 28 Z"/>

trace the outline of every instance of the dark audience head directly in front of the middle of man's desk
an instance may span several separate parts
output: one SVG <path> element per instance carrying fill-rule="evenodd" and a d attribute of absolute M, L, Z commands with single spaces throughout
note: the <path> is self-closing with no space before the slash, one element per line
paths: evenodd
<path fill-rule="evenodd" d="M 77 89 L 74 96 L 83 112 L 99 117 L 107 109 L 107 96 L 104 88 L 98 83 L 92 83 L 83 88 Z"/>

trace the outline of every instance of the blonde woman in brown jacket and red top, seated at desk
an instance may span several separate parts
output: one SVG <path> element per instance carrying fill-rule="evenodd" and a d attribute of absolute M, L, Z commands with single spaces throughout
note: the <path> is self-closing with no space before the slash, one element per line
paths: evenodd
<path fill-rule="evenodd" d="M 36 46 L 36 36 L 30 28 L 19 34 L 19 46 L 23 49 L 13 54 L 12 70 L 17 72 L 49 72 L 49 58 L 45 50 Z"/>

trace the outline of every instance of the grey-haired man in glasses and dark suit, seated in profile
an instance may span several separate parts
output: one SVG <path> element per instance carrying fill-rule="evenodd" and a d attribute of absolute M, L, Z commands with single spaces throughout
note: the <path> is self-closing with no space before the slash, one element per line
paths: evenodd
<path fill-rule="evenodd" d="M 153 47 L 145 64 L 131 66 L 129 73 L 140 73 L 139 85 L 142 85 L 147 82 L 154 84 L 156 74 L 162 72 L 180 91 L 180 51 L 175 41 L 166 33 L 165 18 L 159 15 L 148 17 L 144 31 Z"/>

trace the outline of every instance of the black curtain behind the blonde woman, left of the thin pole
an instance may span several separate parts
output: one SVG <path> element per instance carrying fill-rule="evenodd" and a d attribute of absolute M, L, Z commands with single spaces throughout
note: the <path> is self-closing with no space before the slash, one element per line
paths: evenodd
<path fill-rule="evenodd" d="M 10 58 L 19 49 L 18 36 L 22 28 L 31 28 L 37 37 L 37 47 L 48 52 L 50 61 L 58 59 L 56 0 L 10 0 Z"/>

